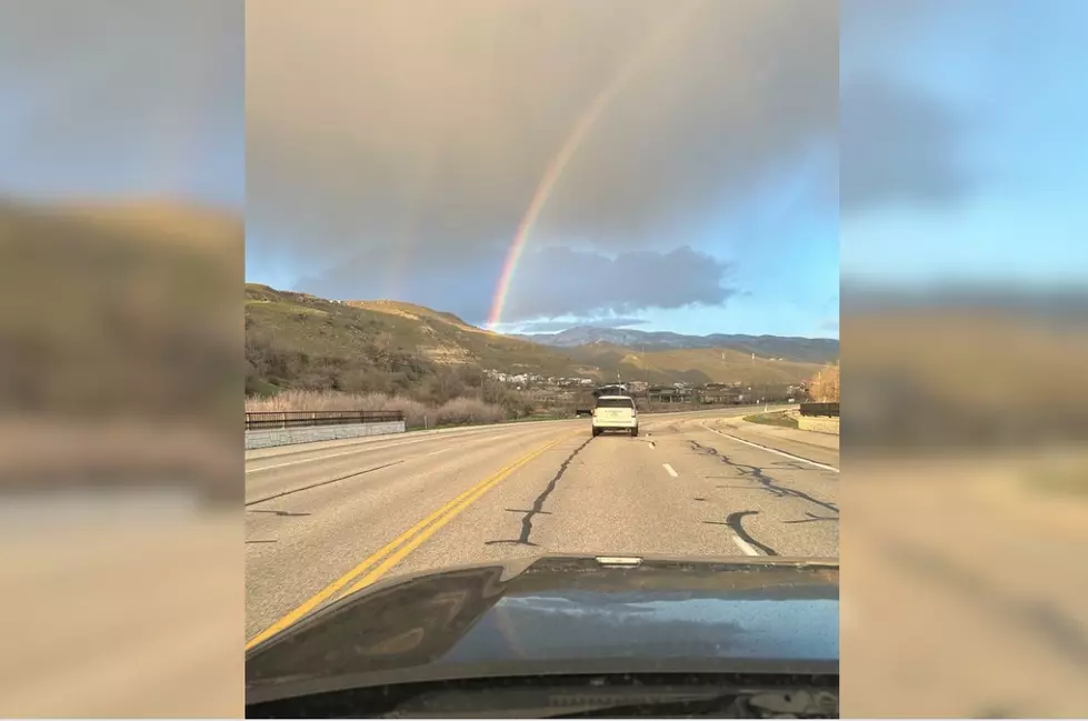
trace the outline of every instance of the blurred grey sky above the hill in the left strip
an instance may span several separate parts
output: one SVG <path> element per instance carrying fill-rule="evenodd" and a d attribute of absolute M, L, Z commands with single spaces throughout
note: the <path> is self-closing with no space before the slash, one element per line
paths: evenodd
<path fill-rule="evenodd" d="M 0 3 L 0 197 L 242 211 L 243 33 L 232 0 Z"/>

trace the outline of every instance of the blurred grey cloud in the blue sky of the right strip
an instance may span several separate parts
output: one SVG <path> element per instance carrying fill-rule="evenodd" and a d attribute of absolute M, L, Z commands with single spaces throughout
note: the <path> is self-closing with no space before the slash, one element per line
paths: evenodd
<path fill-rule="evenodd" d="M 966 120 L 942 101 L 870 76 L 842 91 L 839 202 L 844 213 L 889 203 L 944 206 L 974 188 Z"/>

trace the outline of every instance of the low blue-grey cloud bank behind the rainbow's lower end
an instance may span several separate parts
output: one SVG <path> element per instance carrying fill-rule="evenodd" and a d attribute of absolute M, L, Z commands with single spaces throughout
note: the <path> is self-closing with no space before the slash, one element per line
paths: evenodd
<path fill-rule="evenodd" d="M 390 287 L 387 269 L 395 264 L 390 258 L 395 253 L 392 248 L 365 250 L 330 271 L 302 279 L 299 290 L 343 300 L 411 298 L 472 323 L 487 320 L 492 288 L 478 279 L 498 276 L 501 252 L 447 254 L 442 262 L 411 266 Z M 615 256 L 541 248 L 522 257 L 502 321 L 605 318 L 650 308 L 718 306 L 735 292 L 727 284 L 729 271 L 728 263 L 687 247 Z"/>

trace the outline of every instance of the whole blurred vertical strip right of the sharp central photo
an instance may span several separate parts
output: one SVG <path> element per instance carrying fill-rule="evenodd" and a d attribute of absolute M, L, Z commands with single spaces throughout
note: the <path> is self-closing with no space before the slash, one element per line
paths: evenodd
<path fill-rule="evenodd" d="M 840 6 L 842 713 L 1088 713 L 1088 4 Z"/>

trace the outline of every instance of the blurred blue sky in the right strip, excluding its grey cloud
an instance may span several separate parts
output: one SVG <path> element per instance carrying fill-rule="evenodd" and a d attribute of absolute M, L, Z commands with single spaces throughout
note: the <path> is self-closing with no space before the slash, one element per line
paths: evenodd
<path fill-rule="evenodd" d="M 844 278 L 1088 280 L 1088 3 L 850 0 L 842 21 L 844 89 L 876 79 L 951 127 L 944 143 L 911 138 L 916 119 L 887 133 L 932 154 L 930 172 L 844 211 Z M 844 168 L 868 147 L 844 134 Z M 949 167 L 959 181 L 942 183 Z"/>

